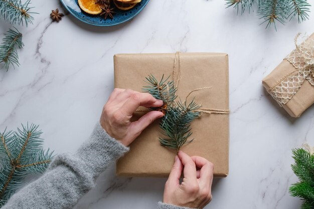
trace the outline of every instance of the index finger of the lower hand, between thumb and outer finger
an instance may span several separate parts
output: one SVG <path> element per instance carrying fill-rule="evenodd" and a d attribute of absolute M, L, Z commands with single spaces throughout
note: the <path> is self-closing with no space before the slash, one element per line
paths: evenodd
<path fill-rule="evenodd" d="M 182 164 L 184 165 L 184 169 L 183 169 L 184 177 L 189 180 L 196 181 L 196 177 L 197 177 L 196 165 L 194 161 L 192 160 L 192 158 L 186 153 L 184 153 L 183 151 L 179 151 L 178 156 Z"/>

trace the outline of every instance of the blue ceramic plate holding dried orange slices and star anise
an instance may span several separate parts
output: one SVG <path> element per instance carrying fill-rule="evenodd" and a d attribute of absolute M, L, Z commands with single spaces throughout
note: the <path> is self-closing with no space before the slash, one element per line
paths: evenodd
<path fill-rule="evenodd" d="M 115 9 L 114 10 L 115 14 L 113 16 L 114 18 L 111 19 L 108 17 L 106 20 L 104 19 L 103 16 L 93 16 L 82 12 L 78 6 L 77 0 L 60 0 L 60 1 L 75 18 L 79 19 L 84 23 L 94 26 L 114 26 L 131 20 L 146 6 L 149 0 L 142 0 L 135 7 L 127 11 Z"/>

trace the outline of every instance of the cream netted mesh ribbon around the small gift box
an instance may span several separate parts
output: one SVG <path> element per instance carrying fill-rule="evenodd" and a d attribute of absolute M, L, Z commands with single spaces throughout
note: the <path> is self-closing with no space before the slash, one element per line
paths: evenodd
<path fill-rule="evenodd" d="M 295 71 L 285 75 L 268 89 L 268 93 L 280 107 L 296 94 L 305 80 L 314 86 L 314 40 L 308 37 L 299 38 L 300 33 L 294 39 L 295 49 L 285 58 L 294 66 Z"/>

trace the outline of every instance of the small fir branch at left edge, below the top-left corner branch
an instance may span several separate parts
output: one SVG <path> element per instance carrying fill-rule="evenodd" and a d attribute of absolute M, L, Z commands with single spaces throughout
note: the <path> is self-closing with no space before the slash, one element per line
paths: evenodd
<path fill-rule="evenodd" d="M 6 70 L 9 70 L 9 66 L 15 65 L 19 66 L 19 56 L 17 48 L 22 49 L 24 44 L 22 42 L 22 34 L 14 28 L 14 30 L 9 29 L 7 33 L 4 34 L 3 42 L 0 45 L 0 63 L 4 63 Z"/>

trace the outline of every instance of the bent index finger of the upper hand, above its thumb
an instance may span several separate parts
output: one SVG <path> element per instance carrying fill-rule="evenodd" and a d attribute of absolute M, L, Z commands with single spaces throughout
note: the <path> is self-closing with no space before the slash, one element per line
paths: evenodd
<path fill-rule="evenodd" d="M 148 93 L 134 93 L 121 107 L 121 113 L 132 115 L 139 106 L 159 107 L 163 105 L 162 100 L 157 100 Z"/>

